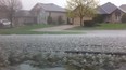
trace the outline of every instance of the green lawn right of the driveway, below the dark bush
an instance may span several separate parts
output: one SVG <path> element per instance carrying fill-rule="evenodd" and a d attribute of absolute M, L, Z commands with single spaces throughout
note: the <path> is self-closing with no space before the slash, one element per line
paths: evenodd
<path fill-rule="evenodd" d="M 126 24 L 100 24 L 94 27 L 75 27 L 68 30 L 126 30 Z"/>

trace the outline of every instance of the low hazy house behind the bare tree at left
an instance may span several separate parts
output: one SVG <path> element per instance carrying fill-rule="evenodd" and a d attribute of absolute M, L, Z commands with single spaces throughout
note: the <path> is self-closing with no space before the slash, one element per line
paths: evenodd
<path fill-rule="evenodd" d="M 0 10 L 0 19 L 9 19 L 8 12 L 2 10 Z M 15 14 L 13 15 L 13 23 L 12 23 L 13 26 L 22 26 L 25 24 L 33 24 L 33 23 L 37 23 L 37 22 L 36 22 L 36 17 L 33 16 L 30 11 L 21 10 L 15 12 Z"/>

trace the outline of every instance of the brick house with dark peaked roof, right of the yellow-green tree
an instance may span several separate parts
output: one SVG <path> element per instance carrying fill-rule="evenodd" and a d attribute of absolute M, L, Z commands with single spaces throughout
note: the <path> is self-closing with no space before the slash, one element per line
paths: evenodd
<path fill-rule="evenodd" d="M 105 23 L 121 23 L 122 16 L 126 13 L 126 11 L 111 2 L 99 6 L 97 11 L 97 14 L 103 16 Z"/>

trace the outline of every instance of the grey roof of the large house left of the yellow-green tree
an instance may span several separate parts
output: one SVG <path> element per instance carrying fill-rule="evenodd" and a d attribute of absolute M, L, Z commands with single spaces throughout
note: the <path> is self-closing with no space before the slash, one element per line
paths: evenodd
<path fill-rule="evenodd" d="M 65 12 L 65 9 L 55 5 L 53 3 L 48 3 L 48 4 L 43 4 L 43 3 L 38 3 L 42 9 L 45 9 L 46 11 L 55 11 L 55 12 Z"/>

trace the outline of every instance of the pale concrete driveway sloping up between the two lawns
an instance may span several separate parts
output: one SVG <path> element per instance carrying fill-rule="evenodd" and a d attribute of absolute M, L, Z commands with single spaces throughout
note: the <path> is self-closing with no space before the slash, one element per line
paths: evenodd
<path fill-rule="evenodd" d="M 61 26 L 55 26 L 55 27 L 35 29 L 33 31 L 62 31 L 62 30 L 70 29 L 73 27 L 77 27 L 77 25 L 61 25 Z"/>

